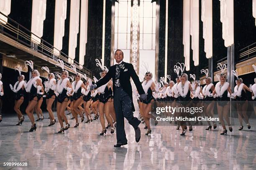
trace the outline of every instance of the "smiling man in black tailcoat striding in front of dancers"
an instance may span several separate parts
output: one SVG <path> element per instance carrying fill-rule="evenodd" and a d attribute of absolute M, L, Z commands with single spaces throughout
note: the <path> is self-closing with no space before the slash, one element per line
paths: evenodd
<path fill-rule="evenodd" d="M 141 82 L 136 74 L 133 65 L 123 62 L 123 52 L 121 50 L 115 51 L 115 62 L 117 64 L 110 67 L 108 73 L 100 79 L 96 84 L 91 85 L 90 89 L 95 89 L 105 85 L 111 78 L 113 79 L 113 95 L 114 108 L 116 114 L 116 138 L 117 144 L 114 147 L 127 145 L 127 139 L 124 130 L 124 117 L 135 130 L 135 140 L 138 142 L 141 139 L 141 130 L 138 125 L 141 123 L 137 117 L 133 117 L 135 111 L 133 105 L 133 93 L 130 78 L 136 85 L 141 99 L 146 99 L 146 94 L 142 88 Z"/>

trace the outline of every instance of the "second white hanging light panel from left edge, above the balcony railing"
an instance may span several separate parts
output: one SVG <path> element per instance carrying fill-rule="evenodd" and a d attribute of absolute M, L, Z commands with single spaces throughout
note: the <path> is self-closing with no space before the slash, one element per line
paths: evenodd
<path fill-rule="evenodd" d="M 41 43 L 43 36 L 44 20 L 46 17 L 46 0 L 33 0 L 31 19 L 31 40 L 36 44 Z M 36 36 L 35 36 L 36 35 Z"/>

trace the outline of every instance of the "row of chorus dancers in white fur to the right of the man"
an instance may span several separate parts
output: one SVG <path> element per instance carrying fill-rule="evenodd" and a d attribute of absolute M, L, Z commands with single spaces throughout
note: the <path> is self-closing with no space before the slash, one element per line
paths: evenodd
<path fill-rule="evenodd" d="M 218 63 L 218 69 L 221 70 L 220 75 L 218 75 L 219 82 L 214 86 L 212 83 L 212 78 L 208 76 L 208 70 L 201 70 L 202 74 L 205 74 L 205 86 L 202 88 L 200 86 L 200 80 L 196 80 L 195 75 L 191 75 L 192 83 L 188 81 L 188 75 L 184 73 L 184 63 L 177 63 L 174 66 L 174 72 L 177 73 L 176 83 L 171 80 L 171 77 L 168 75 L 168 82 L 164 82 L 164 78 L 160 79 L 160 82 L 154 83 L 152 80 L 152 73 L 146 72 L 144 81 L 142 82 L 143 89 L 147 94 L 147 100 L 138 100 L 139 108 L 141 116 L 146 122 L 145 128 L 148 129 L 146 135 L 151 133 L 149 118 L 153 118 L 155 120 L 155 125 L 157 125 L 156 118 L 149 114 L 151 111 L 151 104 L 154 100 L 156 101 L 170 101 L 172 107 L 198 107 L 200 101 L 204 102 L 205 108 L 205 116 L 214 117 L 213 108 L 215 106 L 215 102 L 217 101 L 217 110 L 218 117 L 220 119 L 220 124 L 223 127 L 221 135 L 227 134 L 227 129 L 225 126 L 225 121 L 228 124 L 228 129 L 230 132 L 233 131 L 233 128 L 230 123 L 229 117 L 229 107 L 230 107 L 230 98 L 232 100 L 236 100 L 237 102 L 237 113 L 238 120 L 240 123 L 240 128 L 238 130 L 243 130 L 243 120 L 246 123 L 248 129 L 251 128 L 249 123 L 249 118 L 247 115 L 248 108 L 248 100 L 256 100 L 256 78 L 254 79 L 255 84 L 250 85 L 250 87 L 246 86 L 243 83 L 243 80 L 238 77 L 238 73 L 236 70 L 232 70 L 234 76 L 236 76 L 236 86 L 234 87 L 234 92 L 232 92 L 230 88 L 230 84 L 226 81 L 227 75 L 225 74 L 226 65 L 222 65 Z M 256 66 L 253 65 L 253 68 L 256 72 Z M 162 86 L 162 87 L 161 87 Z M 153 91 L 153 92 L 152 92 Z M 246 96 L 246 92 L 251 92 L 251 99 Z M 139 98 L 139 95 L 136 94 Z M 193 101 L 193 102 L 189 102 Z M 162 103 L 163 105 L 164 103 Z M 254 105 L 254 110 L 256 112 L 256 106 Z M 183 117 L 191 117 L 189 114 L 184 113 L 176 113 L 174 116 L 183 116 Z M 177 122 L 177 130 L 179 130 L 180 126 L 182 127 L 181 135 L 185 135 L 187 125 L 186 122 Z M 189 131 L 192 131 L 191 122 L 187 122 L 189 125 Z M 197 122 L 196 122 L 197 123 Z M 208 127 L 205 130 L 211 130 L 212 125 L 213 128 L 217 128 L 216 122 L 207 121 Z"/>

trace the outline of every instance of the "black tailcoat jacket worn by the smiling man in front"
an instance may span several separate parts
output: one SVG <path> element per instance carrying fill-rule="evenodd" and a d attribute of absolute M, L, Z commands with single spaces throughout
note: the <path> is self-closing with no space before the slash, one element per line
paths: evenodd
<path fill-rule="evenodd" d="M 133 92 L 132 92 L 132 87 L 131 87 L 131 81 L 130 78 L 133 79 L 133 82 L 136 85 L 136 88 L 138 90 L 138 93 L 144 94 L 144 90 L 142 88 L 141 82 L 138 78 L 138 75 L 136 74 L 133 65 L 127 62 L 122 62 L 121 65 L 123 65 L 123 67 L 120 68 L 120 85 L 121 87 L 123 87 L 123 90 L 131 97 L 131 100 L 133 101 Z M 105 75 L 105 77 L 103 77 L 102 79 L 100 79 L 96 85 L 97 88 L 105 85 L 111 78 L 113 80 L 113 95 L 115 95 L 115 69 L 116 69 L 116 65 L 113 65 L 110 67 L 108 73 Z M 132 102 L 132 110 L 133 112 L 135 111 L 134 109 L 134 105 Z"/>

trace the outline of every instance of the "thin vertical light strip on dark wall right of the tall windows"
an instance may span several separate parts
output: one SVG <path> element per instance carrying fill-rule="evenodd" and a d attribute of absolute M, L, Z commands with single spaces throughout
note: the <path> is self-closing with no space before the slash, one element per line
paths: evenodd
<path fill-rule="evenodd" d="M 168 55 L 168 0 L 166 0 L 165 10 L 165 55 L 164 55 L 164 81 L 167 80 L 167 55 Z"/>

